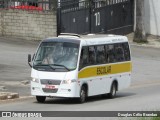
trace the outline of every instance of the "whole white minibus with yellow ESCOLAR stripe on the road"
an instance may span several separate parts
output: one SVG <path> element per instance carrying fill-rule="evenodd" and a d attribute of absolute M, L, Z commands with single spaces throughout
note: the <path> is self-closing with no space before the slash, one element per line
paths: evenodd
<path fill-rule="evenodd" d="M 62 34 L 43 40 L 31 60 L 31 94 L 38 102 L 46 97 L 110 98 L 131 83 L 128 39 L 118 35 Z"/>

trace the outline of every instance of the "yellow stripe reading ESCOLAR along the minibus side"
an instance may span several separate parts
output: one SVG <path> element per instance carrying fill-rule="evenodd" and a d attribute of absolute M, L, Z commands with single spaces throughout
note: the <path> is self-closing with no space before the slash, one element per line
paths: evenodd
<path fill-rule="evenodd" d="M 78 73 L 78 78 L 79 79 L 89 78 L 89 77 L 131 72 L 131 69 L 132 69 L 131 62 L 87 67 Z"/>

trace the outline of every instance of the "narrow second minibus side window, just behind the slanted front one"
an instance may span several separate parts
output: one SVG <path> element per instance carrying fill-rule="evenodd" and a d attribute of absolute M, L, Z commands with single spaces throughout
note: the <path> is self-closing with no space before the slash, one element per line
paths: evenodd
<path fill-rule="evenodd" d="M 89 47 L 89 64 L 95 65 L 96 64 L 96 51 L 94 46 Z"/>

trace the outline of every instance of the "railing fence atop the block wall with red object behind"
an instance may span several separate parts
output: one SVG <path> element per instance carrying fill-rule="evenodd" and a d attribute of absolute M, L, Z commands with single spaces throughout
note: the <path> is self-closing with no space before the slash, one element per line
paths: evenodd
<path fill-rule="evenodd" d="M 49 11 L 56 6 L 57 0 L 0 0 L 0 9 Z"/>

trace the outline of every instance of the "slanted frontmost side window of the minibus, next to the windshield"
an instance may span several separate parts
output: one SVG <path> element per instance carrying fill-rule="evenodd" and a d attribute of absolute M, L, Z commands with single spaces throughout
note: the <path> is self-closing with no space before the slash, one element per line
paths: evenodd
<path fill-rule="evenodd" d="M 88 65 L 88 47 L 82 47 L 79 70 Z"/>

